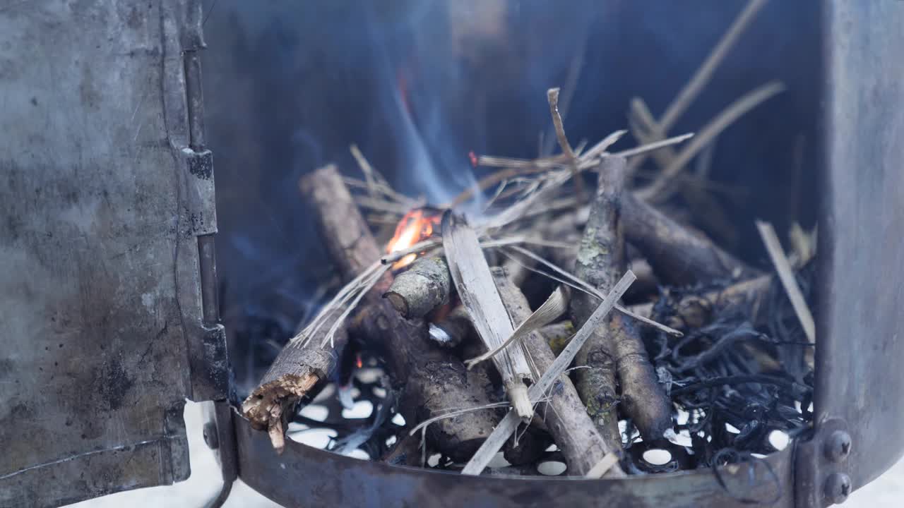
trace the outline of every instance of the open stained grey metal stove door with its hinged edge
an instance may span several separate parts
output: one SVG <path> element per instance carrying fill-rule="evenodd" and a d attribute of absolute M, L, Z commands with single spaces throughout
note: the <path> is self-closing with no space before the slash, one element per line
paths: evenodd
<path fill-rule="evenodd" d="M 0 505 L 189 474 L 225 397 L 200 3 L 0 4 Z"/>

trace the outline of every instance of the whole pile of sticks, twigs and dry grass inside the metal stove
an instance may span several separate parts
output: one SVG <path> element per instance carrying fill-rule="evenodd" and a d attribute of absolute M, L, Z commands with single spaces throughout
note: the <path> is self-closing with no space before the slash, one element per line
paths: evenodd
<path fill-rule="evenodd" d="M 768 432 L 804 428 L 807 416 L 795 405 L 808 402 L 812 369 L 805 355 L 786 351 L 812 345 L 812 316 L 774 233 L 761 227 L 781 297 L 772 276 L 658 208 L 679 192 L 700 204 L 696 210 L 718 209 L 705 193 L 683 185 L 682 168 L 745 112 L 781 91 L 779 83 L 753 90 L 681 150 L 673 146 L 692 135 L 667 136 L 762 4 L 750 1 L 663 118 L 656 120 L 641 99 L 632 101 L 628 123 L 641 146 L 608 151 L 627 131 L 586 150 L 572 145 L 559 90 L 550 89 L 561 154 L 479 157 L 479 165 L 500 169 L 440 207 L 441 235 L 406 249 L 380 257 L 357 208 L 372 212 L 372 224 L 391 226 L 424 203 L 393 191 L 356 147 L 363 180 L 334 170 L 307 176 L 304 192 L 326 248 L 349 282 L 280 353 L 246 400 L 246 416 L 268 428 L 280 446 L 290 409 L 323 384 L 348 336 L 356 334 L 382 346 L 391 388 L 400 391 L 408 434 L 389 455 L 394 463 L 422 464 L 428 449 L 438 450 L 444 467 L 479 474 L 502 447 L 506 456 L 529 462 L 536 455 L 530 450 L 551 437 L 573 474 L 622 475 L 766 453 Z M 648 154 L 661 171 L 632 190 L 631 177 Z M 585 181 L 591 171 L 598 174 L 596 193 Z M 346 185 L 361 194 L 353 198 Z M 454 212 L 493 187 L 483 215 L 466 221 Z M 627 269 L 628 245 L 632 267 L 647 267 L 646 278 L 655 281 L 639 297 L 657 284 L 670 285 L 658 287 L 656 302 L 618 301 L 635 279 Z M 412 257 L 417 260 L 400 268 Z M 511 271 L 492 266 L 500 261 Z M 531 287 L 532 277 L 545 284 Z M 532 310 L 522 288 L 545 301 Z M 786 310 L 788 302 L 793 314 L 778 308 Z M 675 419 L 679 411 L 688 414 L 686 421 Z M 519 454 L 518 439 L 509 437 L 522 424 L 532 426 L 523 438 L 534 442 Z M 727 434 L 726 425 L 739 429 L 737 435 Z M 678 445 L 679 435 L 691 443 Z M 672 452 L 669 465 L 638 458 L 651 447 Z"/>

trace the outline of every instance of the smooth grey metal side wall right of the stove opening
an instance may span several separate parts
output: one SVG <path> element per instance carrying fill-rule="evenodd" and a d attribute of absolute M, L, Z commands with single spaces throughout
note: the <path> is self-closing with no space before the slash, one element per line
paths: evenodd
<path fill-rule="evenodd" d="M 904 452 L 902 50 L 904 2 L 826 4 L 815 504 L 832 472 L 856 489 Z M 833 461 L 839 426 L 850 455 Z"/>

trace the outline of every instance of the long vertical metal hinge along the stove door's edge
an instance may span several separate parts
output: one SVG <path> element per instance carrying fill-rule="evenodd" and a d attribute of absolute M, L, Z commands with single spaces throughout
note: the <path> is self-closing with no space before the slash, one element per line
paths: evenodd
<path fill-rule="evenodd" d="M 226 334 L 220 324 L 217 294 L 216 200 L 213 155 L 204 143 L 200 52 L 202 8 L 199 0 L 166 4 L 177 47 L 165 58 L 167 133 L 179 164 L 180 250 L 177 284 L 187 345 L 191 398 L 225 400 L 229 395 Z"/>

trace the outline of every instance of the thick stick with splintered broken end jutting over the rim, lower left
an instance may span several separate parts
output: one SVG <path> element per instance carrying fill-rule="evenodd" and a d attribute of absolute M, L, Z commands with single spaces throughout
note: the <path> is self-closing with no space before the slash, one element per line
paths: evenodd
<path fill-rule="evenodd" d="M 334 311 L 318 333 L 325 335 L 340 314 L 342 309 Z M 242 403 L 241 411 L 251 427 L 267 430 L 278 453 L 286 447 L 284 429 L 297 402 L 307 395 L 315 396 L 312 389 L 319 381 L 329 378 L 346 343 L 348 333 L 344 326 L 335 334 L 334 346 L 320 337 L 288 343 L 264 374 L 258 388 Z"/>

